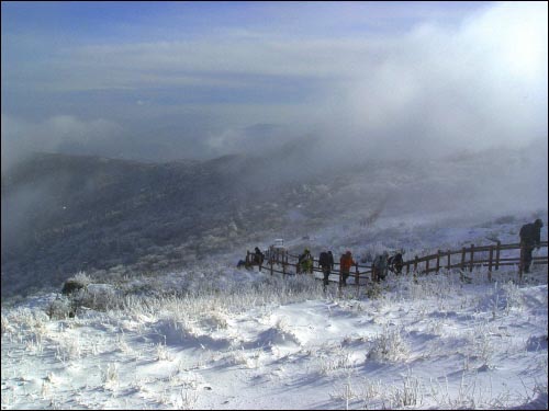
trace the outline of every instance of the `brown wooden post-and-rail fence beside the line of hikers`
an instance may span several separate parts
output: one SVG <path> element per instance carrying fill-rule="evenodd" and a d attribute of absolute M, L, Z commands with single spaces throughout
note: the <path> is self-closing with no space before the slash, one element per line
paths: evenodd
<path fill-rule="evenodd" d="M 547 248 L 548 242 L 541 241 L 540 248 Z M 515 251 L 514 255 L 508 255 L 509 251 Z M 518 253 L 516 252 L 518 251 Z M 505 252 L 505 253 L 502 253 Z M 516 255 L 518 254 L 518 255 Z M 247 252 L 246 263 L 254 264 L 254 253 Z M 453 258 L 453 259 L 452 259 Z M 259 265 L 259 270 L 267 269 L 270 274 L 280 273 L 282 275 L 295 275 L 296 264 L 299 256 L 291 254 L 288 251 L 281 252 L 277 251 L 272 255 L 267 255 L 266 261 Z M 548 264 L 548 255 L 533 256 L 531 264 Z M 258 265 L 256 263 L 256 265 Z M 277 267 L 274 267 L 274 265 Z M 501 266 L 516 265 L 518 267 L 519 281 L 523 279 L 524 262 L 523 262 L 523 249 L 519 243 L 502 244 L 497 242 L 495 246 L 478 246 L 471 244 L 471 247 L 463 247 L 461 250 L 438 250 L 435 254 L 417 256 L 414 259 L 404 261 L 403 271 L 405 274 L 413 272 L 415 274 L 428 274 L 438 273 L 440 270 L 452 270 L 459 269 L 461 271 L 468 270 L 473 271 L 474 267 L 488 267 L 488 277 L 492 279 L 492 271 L 497 271 Z M 334 270 L 330 273 L 329 281 L 339 283 L 341 285 L 341 274 L 339 272 L 339 263 L 334 262 Z M 336 269 L 337 267 L 337 269 Z M 355 264 L 354 272 L 349 274 L 349 278 L 354 278 L 355 286 L 357 288 L 357 295 L 359 293 L 360 285 L 365 285 L 372 281 L 372 266 Z M 318 266 L 318 260 L 313 258 L 313 275 L 314 273 L 322 273 Z M 322 278 L 316 277 L 316 278 Z"/>

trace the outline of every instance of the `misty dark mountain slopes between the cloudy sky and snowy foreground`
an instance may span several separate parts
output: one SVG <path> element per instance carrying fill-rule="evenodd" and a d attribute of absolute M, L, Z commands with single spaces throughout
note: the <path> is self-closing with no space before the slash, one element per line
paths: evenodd
<path fill-rule="evenodd" d="M 36 153 L 2 172 L 2 296 L 78 271 L 157 272 L 327 224 L 451 209 L 524 168 L 514 152 L 336 163 L 311 147 L 167 163 Z"/>

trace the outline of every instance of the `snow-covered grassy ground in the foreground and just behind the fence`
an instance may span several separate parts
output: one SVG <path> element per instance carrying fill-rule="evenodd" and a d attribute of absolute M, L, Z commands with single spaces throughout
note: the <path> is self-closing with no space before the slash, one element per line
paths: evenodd
<path fill-rule="evenodd" d="M 315 254 L 329 239 L 357 255 L 459 248 L 515 242 L 524 222 L 380 221 L 368 238 L 327 229 L 307 241 Z M 119 278 L 132 296 L 74 318 L 48 317 L 55 294 L 3 307 L 2 409 L 547 409 L 546 265 L 522 284 L 513 267 L 492 282 L 483 270 L 390 275 L 357 298 L 306 275 L 238 271 L 236 258 Z"/>

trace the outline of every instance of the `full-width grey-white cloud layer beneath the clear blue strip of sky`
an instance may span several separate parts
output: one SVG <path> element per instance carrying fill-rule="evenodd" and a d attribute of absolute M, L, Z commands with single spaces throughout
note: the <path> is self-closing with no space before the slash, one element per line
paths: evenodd
<path fill-rule="evenodd" d="M 144 156 L 168 158 L 183 142 L 184 156 L 222 155 L 253 139 L 243 130 L 254 124 L 316 134 L 328 152 L 352 147 L 356 156 L 432 156 L 547 137 L 547 3 L 495 3 L 461 13 L 459 24 L 438 14 L 405 32 L 390 31 L 386 21 L 381 33 L 360 32 L 368 19 L 356 18 L 350 34 L 332 37 L 320 35 L 318 25 L 315 35 L 306 25 L 298 35 L 256 26 L 70 45 L 37 61 L 18 60 L 2 83 L 19 118 L 24 109 L 12 107 L 32 105 L 25 100 L 31 89 L 56 102 L 34 109 L 49 110 L 41 125 L 48 137 L 37 139 L 32 126 L 25 137 L 44 147 L 59 147 L 59 139 L 90 142 L 100 134 L 116 135 L 113 145 L 132 141 L 121 147 L 148 147 L 154 136 L 158 150 Z M 16 134 L 26 126 L 12 121 L 7 127 Z"/>

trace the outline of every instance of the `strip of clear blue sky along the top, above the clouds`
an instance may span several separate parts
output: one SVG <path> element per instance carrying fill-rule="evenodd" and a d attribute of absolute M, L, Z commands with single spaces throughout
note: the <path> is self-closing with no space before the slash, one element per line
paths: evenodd
<path fill-rule="evenodd" d="M 2 30 L 3 33 L 68 35 L 91 42 L 181 38 L 215 28 L 279 28 L 302 35 L 325 35 L 329 30 L 329 34 L 348 34 L 404 30 L 425 19 L 451 23 L 490 3 L 8 1 L 2 3 L 5 13 Z"/>

